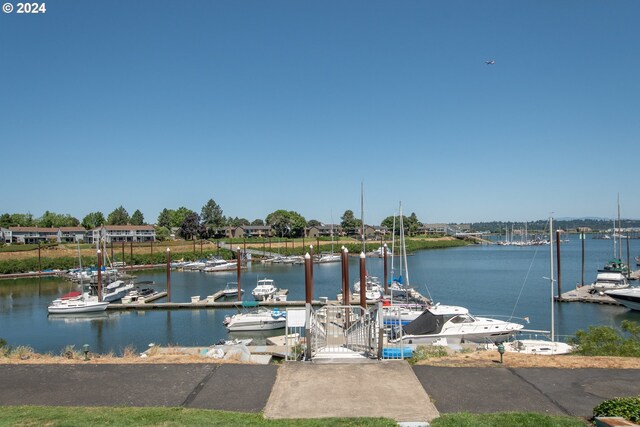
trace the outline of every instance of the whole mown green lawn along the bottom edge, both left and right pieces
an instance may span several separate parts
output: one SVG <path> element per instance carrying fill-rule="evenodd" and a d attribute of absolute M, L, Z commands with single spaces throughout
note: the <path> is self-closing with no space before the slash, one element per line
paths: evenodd
<path fill-rule="evenodd" d="M 267 420 L 262 414 L 185 408 L 74 408 L 10 406 L 0 411 L 0 426 L 395 426 L 385 418 L 323 418 Z M 580 418 L 533 413 L 448 414 L 432 427 L 584 427 Z"/>

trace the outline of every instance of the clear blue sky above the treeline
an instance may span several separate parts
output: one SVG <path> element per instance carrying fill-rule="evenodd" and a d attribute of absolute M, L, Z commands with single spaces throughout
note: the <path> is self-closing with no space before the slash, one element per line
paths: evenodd
<path fill-rule="evenodd" d="M 0 13 L 0 213 L 640 217 L 640 2 L 46 4 Z"/>

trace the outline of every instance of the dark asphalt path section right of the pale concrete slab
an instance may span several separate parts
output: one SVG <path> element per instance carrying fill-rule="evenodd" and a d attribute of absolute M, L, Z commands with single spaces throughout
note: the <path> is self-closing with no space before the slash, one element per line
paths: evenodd
<path fill-rule="evenodd" d="M 531 411 L 593 416 L 604 400 L 640 395 L 640 369 L 414 366 L 441 413 Z"/>

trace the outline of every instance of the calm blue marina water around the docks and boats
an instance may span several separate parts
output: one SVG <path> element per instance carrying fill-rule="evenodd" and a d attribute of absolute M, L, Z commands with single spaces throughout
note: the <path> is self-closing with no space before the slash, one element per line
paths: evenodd
<path fill-rule="evenodd" d="M 640 240 L 630 240 L 631 259 L 640 253 Z M 613 255 L 610 240 L 585 241 L 585 281 Z M 623 241 L 626 259 L 626 242 Z M 575 287 L 581 277 L 580 241 L 572 236 L 562 244 L 563 291 Z M 397 260 L 396 260 L 397 261 Z M 555 262 L 555 261 L 554 261 Z M 529 317 L 528 329 L 550 328 L 549 247 L 471 246 L 420 251 L 408 257 L 412 286 L 443 304 L 462 305 L 474 313 Z M 396 263 L 397 267 L 397 263 Z M 382 277 L 381 259 L 368 259 L 367 270 Z M 350 282 L 358 279 L 358 260 L 350 260 Z M 172 301 L 205 297 L 235 280 L 232 273 L 173 272 Z M 304 299 L 304 267 L 266 266 L 254 263 L 243 274 L 245 299 L 258 278 L 271 278 L 289 289 L 290 300 Z M 164 289 L 164 271 L 140 274 L 137 280 L 154 280 Z M 314 298 L 334 299 L 340 291 L 340 263 L 314 266 Z M 91 345 L 92 351 L 120 353 L 126 346 L 138 350 L 149 343 L 207 346 L 229 338 L 222 321 L 236 310 L 200 309 L 174 311 L 107 311 L 85 316 L 48 316 L 47 306 L 73 285 L 60 279 L 0 281 L 0 337 L 12 346 L 28 345 L 38 352 L 60 351 L 73 344 Z M 555 304 L 556 332 L 572 335 L 589 325 L 617 326 L 624 319 L 640 322 L 640 312 L 624 307 L 563 303 Z M 272 334 L 279 335 L 282 331 Z M 247 333 L 245 333 L 247 334 Z M 236 335 L 232 335 L 236 336 Z M 258 337 L 264 339 L 264 336 Z"/>

